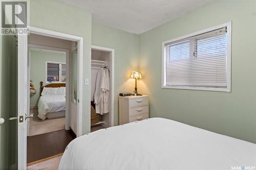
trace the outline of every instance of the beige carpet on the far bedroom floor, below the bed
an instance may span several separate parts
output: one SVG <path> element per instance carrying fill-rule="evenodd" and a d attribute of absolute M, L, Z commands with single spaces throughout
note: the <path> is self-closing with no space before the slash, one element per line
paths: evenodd
<path fill-rule="evenodd" d="M 29 120 L 29 136 L 65 129 L 65 117 L 41 120 L 37 117 L 36 109 L 31 110 L 30 114 L 33 114 L 33 118 Z"/>

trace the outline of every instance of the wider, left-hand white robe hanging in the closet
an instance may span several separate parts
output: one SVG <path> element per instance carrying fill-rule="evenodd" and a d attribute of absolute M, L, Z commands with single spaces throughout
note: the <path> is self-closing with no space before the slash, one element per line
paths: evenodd
<path fill-rule="evenodd" d="M 100 68 L 96 77 L 96 86 L 94 93 L 95 111 L 98 114 L 103 114 L 103 92 L 106 91 L 106 76 L 105 70 Z"/>

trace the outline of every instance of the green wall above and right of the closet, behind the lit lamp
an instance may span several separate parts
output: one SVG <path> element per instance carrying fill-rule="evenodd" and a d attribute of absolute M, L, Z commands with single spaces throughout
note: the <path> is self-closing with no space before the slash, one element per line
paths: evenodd
<path fill-rule="evenodd" d="M 115 125 L 118 125 L 119 93 L 134 91 L 135 82 L 130 79 L 130 75 L 133 70 L 138 70 L 139 68 L 138 42 L 139 39 L 136 34 L 92 22 L 92 45 L 115 49 Z"/>

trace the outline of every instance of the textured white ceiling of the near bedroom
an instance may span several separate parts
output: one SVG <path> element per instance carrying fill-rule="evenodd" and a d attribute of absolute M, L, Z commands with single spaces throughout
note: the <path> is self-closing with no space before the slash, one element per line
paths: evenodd
<path fill-rule="evenodd" d="M 92 21 L 140 34 L 214 0 L 59 0 L 92 12 Z M 80 17 L 80 16 L 77 16 Z"/>

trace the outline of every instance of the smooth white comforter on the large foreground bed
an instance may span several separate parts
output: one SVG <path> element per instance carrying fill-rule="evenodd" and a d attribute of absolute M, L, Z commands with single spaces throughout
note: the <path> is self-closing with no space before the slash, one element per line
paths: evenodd
<path fill-rule="evenodd" d="M 256 144 L 164 118 L 98 130 L 71 141 L 59 169 L 244 169 Z"/>

